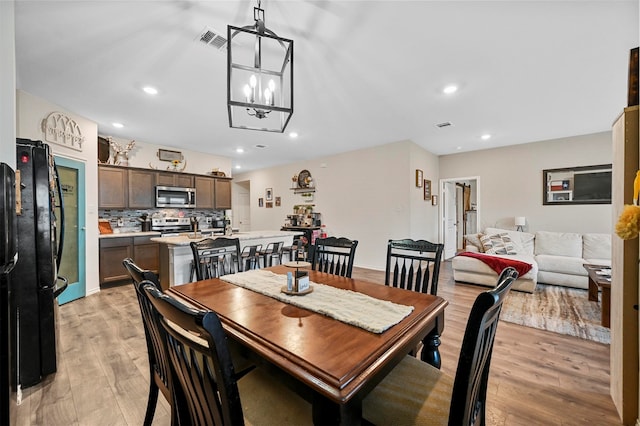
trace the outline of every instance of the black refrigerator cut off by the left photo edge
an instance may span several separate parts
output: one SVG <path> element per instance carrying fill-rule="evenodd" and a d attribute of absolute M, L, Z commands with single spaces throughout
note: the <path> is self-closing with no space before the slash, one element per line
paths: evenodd
<path fill-rule="evenodd" d="M 9 422 L 11 396 L 9 273 L 17 260 L 15 172 L 0 163 L 0 425 Z"/>

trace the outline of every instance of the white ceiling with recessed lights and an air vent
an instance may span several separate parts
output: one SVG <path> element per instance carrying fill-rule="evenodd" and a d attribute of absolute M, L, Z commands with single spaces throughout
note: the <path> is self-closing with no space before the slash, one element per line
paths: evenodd
<path fill-rule="evenodd" d="M 236 173 L 401 140 L 443 155 L 596 133 L 627 105 L 637 0 L 263 0 L 294 40 L 295 109 L 283 134 L 231 129 L 226 50 L 198 38 L 252 24 L 255 5 L 17 0 L 17 86 L 100 135 L 231 157 Z"/>

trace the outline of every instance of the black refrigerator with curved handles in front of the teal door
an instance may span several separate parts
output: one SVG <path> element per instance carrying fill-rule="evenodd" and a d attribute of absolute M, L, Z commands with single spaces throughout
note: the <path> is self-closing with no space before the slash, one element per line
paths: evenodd
<path fill-rule="evenodd" d="M 55 216 L 62 197 L 49 146 L 17 139 L 16 156 L 18 260 L 10 273 L 9 294 L 12 379 L 19 390 L 56 371 L 55 298 L 66 280 L 57 274 L 62 255 L 57 226 L 64 219 Z"/>

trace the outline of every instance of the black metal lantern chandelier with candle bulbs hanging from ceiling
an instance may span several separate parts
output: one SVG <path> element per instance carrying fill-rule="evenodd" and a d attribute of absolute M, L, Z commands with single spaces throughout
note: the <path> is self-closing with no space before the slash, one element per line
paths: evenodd
<path fill-rule="evenodd" d="M 229 126 L 282 133 L 293 114 L 293 40 L 265 26 L 260 0 L 253 20 L 227 26 Z"/>

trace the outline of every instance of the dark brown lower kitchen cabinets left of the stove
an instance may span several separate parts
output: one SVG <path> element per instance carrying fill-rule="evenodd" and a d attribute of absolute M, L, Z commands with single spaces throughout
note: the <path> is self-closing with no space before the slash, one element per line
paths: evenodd
<path fill-rule="evenodd" d="M 150 236 L 109 237 L 100 239 L 99 277 L 100 284 L 129 280 L 122 265 L 127 257 L 142 269 L 158 273 L 160 269 L 160 245 Z"/>

